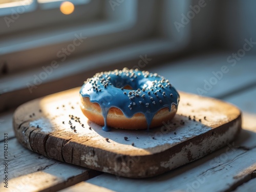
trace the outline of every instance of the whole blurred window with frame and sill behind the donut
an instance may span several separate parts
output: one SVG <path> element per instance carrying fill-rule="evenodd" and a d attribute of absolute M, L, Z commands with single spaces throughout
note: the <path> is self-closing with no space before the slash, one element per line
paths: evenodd
<path fill-rule="evenodd" d="M 19 90 L 26 95 L 19 103 L 35 97 L 27 95 L 27 83 L 55 60 L 58 70 L 40 83 L 44 91 L 39 87 L 33 90 L 37 97 L 60 90 L 59 86 L 49 89 L 45 84 L 66 78 L 61 89 L 67 89 L 68 83 L 72 87 L 83 81 L 89 70 L 108 69 L 117 63 L 121 63 L 119 68 L 133 67 L 140 55 L 163 58 L 161 55 L 187 45 L 189 36 L 184 31 L 190 30 L 189 25 L 179 33 L 172 27 L 181 13 L 187 12 L 187 0 L 70 0 L 75 10 L 69 15 L 60 12 L 63 1 L 28 1 L 0 4 L 0 71 L 5 72 L 0 74 L 0 99 L 9 100 L 12 97 L 8 95 L 19 94 Z M 9 26 L 5 17 L 11 19 Z M 74 50 L 71 44 L 77 36 L 84 42 Z M 71 50 L 67 57 L 61 56 L 67 48 Z M 70 80 L 72 76 L 76 81 Z"/>

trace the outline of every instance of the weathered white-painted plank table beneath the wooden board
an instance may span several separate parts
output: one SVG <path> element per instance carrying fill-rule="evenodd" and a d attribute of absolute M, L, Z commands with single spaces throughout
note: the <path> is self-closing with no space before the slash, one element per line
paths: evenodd
<path fill-rule="evenodd" d="M 213 72 L 227 66 L 204 95 L 239 106 L 242 132 L 232 143 L 199 160 L 157 177 L 128 179 L 63 163 L 21 146 L 12 130 L 13 111 L 0 114 L 0 191 L 256 191 L 256 65 L 245 56 L 234 67 L 229 53 L 176 60 L 172 65 L 145 69 L 168 78 L 181 91 L 198 94 Z M 213 82 L 213 81 L 212 81 Z M 207 92 L 207 93 L 206 93 Z M 4 134 L 8 133 L 8 188 L 4 187 Z"/>

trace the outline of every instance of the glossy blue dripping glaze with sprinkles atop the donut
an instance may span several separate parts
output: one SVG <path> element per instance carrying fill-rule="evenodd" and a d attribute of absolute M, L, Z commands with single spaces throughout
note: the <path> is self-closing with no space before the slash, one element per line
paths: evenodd
<path fill-rule="evenodd" d="M 133 90 L 121 89 L 125 86 L 130 86 Z M 80 96 L 89 97 L 91 102 L 100 105 L 104 131 L 111 130 L 107 125 L 107 116 L 112 107 L 120 109 L 127 118 L 136 113 L 144 114 L 148 130 L 154 115 L 162 108 L 167 107 L 170 111 L 172 104 L 178 107 L 180 98 L 176 89 L 164 77 L 127 68 L 97 73 L 84 82 Z"/>

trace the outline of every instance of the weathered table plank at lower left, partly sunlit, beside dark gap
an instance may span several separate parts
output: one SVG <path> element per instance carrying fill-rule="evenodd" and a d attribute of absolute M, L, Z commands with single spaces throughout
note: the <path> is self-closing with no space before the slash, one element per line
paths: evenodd
<path fill-rule="evenodd" d="M 62 163 L 31 152 L 17 140 L 8 142 L 8 190 L 1 191 L 56 191 L 87 180 L 93 170 Z M 4 167 L 0 167 L 4 175 Z"/>

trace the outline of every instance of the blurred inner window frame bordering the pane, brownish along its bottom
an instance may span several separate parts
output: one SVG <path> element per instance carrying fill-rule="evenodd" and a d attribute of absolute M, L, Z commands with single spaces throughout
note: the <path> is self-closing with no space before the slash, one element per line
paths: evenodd
<path fill-rule="evenodd" d="M 53 27 L 50 32 L 42 31 L 39 28 L 32 32 L 21 32 L 18 35 L 17 32 L 2 35 L 0 36 L 0 56 L 2 57 L 2 62 L 7 62 L 10 66 L 10 72 L 15 72 L 24 68 L 33 67 L 34 65 L 41 65 L 41 63 L 47 62 L 48 60 L 56 59 L 56 54 L 49 53 L 47 55 L 48 58 L 46 58 L 44 53 L 51 52 L 50 49 L 57 53 L 56 50 L 67 47 L 74 40 L 76 34 L 79 35 L 82 33 L 86 37 L 98 37 L 101 35 L 107 36 L 108 34 L 121 33 L 130 29 L 134 25 L 134 22 L 136 22 L 136 15 L 129 16 L 131 15 L 131 11 L 136 8 L 134 5 L 135 0 L 130 0 L 124 3 L 121 9 L 116 11 L 112 11 L 110 7 L 107 7 L 104 10 L 100 10 L 103 15 L 97 14 L 91 20 L 78 21 L 75 25 L 71 22 L 70 28 L 68 27 L 69 25 L 60 25 Z M 104 6 L 104 4 L 101 5 L 101 7 Z M 125 11 L 124 8 L 126 9 Z M 112 36 L 114 37 L 114 35 Z M 79 49 L 82 52 L 84 48 Z M 31 60 L 28 61 L 25 55 L 35 55 L 35 50 L 38 51 L 37 58 L 31 57 Z M 13 55 L 16 57 L 13 57 Z M 16 65 L 16 63 L 19 63 L 19 65 Z"/>

